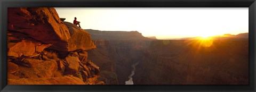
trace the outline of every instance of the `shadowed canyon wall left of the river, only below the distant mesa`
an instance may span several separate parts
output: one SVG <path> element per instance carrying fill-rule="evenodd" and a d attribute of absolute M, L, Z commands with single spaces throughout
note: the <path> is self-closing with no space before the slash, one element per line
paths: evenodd
<path fill-rule="evenodd" d="M 129 80 L 131 65 L 141 61 L 143 51 L 150 41 L 94 40 L 94 43 L 97 49 L 88 51 L 88 58 L 100 66 L 100 79 L 107 84 L 124 85 Z"/>

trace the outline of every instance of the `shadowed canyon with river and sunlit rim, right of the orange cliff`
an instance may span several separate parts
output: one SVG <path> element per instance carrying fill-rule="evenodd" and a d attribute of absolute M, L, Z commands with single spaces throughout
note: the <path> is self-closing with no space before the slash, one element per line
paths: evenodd
<path fill-rule="evenodd" d="M 98 60 L 95 63 L 105 71 L 105 74 L 100 74 L 103 77 L 101 81 L 115 81 L 106 82 L 107 84 L 247 85 L 249 83 L 248 33 L 215 36 L 210 40 L 211 46 L 208 46 L 209 43 L 203 45 L 204 40 L 196 37 L 180 40 L 145 40 L 140 39 L 142 37 L 137 38 L 138 34 L 136 34 L 137 36 L 129 40 L 126 40 L 125 36 L 110 40 L 107 37 L 115 38 L 114 31 L 111 32 L 111 36 L 97 35 L 93 30 L 89 32 L 93 34 L 92 38 L 95 36 L 97 39 L 93 39 L 97 49 L 90 50 L 89 53 L 93 56 L 89 55 L 88 58 L 93 61 Z M 106 34 L 107 31 L 103 32 Z M 130 35 L 132 32 L 134 31 L 130 33 L 122 31 L 123 35 Z M 105 58 L 99 59 L 99 56 Z M 108 79 L 107 72 L 115 75 L 111 76 L 114 80 Z"/>

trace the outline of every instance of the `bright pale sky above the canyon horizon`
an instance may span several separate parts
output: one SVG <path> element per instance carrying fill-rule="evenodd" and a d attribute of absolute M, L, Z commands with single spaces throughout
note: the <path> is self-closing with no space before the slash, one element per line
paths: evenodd
<path fill-rule="evenodd" d="M 82 29 L 139 31 L 157 39 L 249 32 L 248 7 L 55 7 L 60 18 Z"/>

